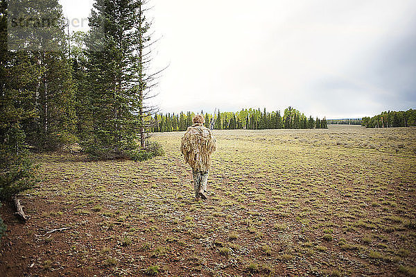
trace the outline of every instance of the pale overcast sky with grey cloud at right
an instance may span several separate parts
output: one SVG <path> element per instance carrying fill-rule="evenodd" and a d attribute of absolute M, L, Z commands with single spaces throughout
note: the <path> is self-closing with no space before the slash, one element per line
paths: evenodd
<path fill-rule="evenodd" d="M 69 19 L 93 2 L 60 0 Z M 334 119 L 416 108 L 414 0 L 150 3 L 155 67 L 169 65 L 163 112 L 293 106 Z"/>

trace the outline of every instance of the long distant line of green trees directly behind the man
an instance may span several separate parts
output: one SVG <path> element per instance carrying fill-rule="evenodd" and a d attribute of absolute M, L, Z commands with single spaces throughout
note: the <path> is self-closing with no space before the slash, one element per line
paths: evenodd
<path fill-rule="evenodd" d="M 205 117 L 205 126 L 215 118 L 214 129 L 217 130 L 234 130 L 234 129 L 248 129 L 248 130 L 262 130 L 262 129 L 307 129 L 307 128 L 328 128 L 327 119 L 313 119 L 313 117 L 306 117 L 299 110 L 288 107 L 284 110 L 282 116 L 279 111 L 267 112 L 266 109 L 261 112 L 260 109 L 243 109 L 239 112 L 220 112 L 216 115 L 200 112 Z M 172 131 L 186 131 L 192 125 L 192 118 L 195 116 L 194 112 L 180 112 L 175 113 L 158 113 L 154 117 L 157 122 L 152 129 L 153 132 L 172 132 Z"/>

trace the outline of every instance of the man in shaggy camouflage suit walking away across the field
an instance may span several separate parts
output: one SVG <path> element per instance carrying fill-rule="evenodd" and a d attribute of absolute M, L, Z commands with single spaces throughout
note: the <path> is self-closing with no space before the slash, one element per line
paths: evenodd
<path fill-rule="evenodd" d="M 192 167 L 195 200 L 207 199 L 208 171 L 211 167 L 211 153 L 216 150 L 216 141 L 211 130 L 205 128 L 205 119 L 197 115 L 192 119 L 193 125 L 182 137 L 180 151 L 185 162 Z"/>

